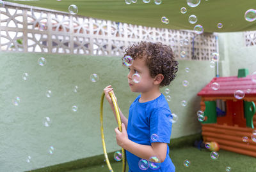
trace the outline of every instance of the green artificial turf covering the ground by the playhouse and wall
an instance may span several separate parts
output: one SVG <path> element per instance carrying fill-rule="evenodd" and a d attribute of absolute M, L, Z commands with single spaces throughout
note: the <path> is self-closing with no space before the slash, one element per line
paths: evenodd
<path fill-rule="evenodd" d="M 196 172 L 220 172 L 226 171 L 227 166 L 231 167 L 232 172 L 255 172 L 256 171 L 256 158 L 246 155 L 236 154 L 220 150 L 219 158 L 216 160 L 211 159 L 208 150 L 198 150 L 195 147 L 186 148 L 173 148 L 170 151 L 170 157 L 173 164 L 175 164 L 177 172 L 196 171 Z M 109 157 L 110 158 L 110 157 Z M 188 159 L 190 166 L 186 168 L 184 161 Z M 122 162 L 111 164 L 114 171 L 122 171 Z M 98 166 L 90 166 L 88 168 L 76 169 L 68 172 L 99 172 L 108 171 L 106 163 L 99 164 Z M 128 171 L 128 170 L 126 170 Z"/>

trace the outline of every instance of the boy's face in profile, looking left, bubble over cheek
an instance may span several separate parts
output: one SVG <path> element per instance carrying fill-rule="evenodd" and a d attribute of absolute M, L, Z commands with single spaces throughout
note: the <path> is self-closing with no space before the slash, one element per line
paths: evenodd
<path fill-rule="evenodd" d="M 132 81 L 132 75 L 138 73 L 140 75 L 140 82 Z M 149 69 L 144 59 L 136 58 L 132 66 L 129 66 L 129 73 L 127 75 L 128 83 L 132 92 L 148 92 L 154 86 L 154 78 L 150 76 Z"/>

